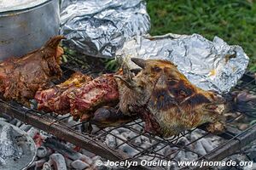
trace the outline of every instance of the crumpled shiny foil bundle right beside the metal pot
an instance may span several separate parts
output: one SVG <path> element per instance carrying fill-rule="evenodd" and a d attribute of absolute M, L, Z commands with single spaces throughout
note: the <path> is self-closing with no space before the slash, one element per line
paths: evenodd
<path fill-rule="evenodd" d="M 61 35 L 83 54 L 113 58 L 127 37 L 145 34 L 149 28 L 142 0 L 61 1 Z"/>

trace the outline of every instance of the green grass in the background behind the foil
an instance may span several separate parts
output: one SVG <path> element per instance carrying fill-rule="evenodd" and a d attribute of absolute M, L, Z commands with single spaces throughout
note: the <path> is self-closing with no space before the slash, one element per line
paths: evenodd
<path fill-rule="evenodd" d="M 251 0 L 147 0 L 151 35 L 168 32 L 221 37 L 240 45 L 256 71 L 256 2 Z"/>

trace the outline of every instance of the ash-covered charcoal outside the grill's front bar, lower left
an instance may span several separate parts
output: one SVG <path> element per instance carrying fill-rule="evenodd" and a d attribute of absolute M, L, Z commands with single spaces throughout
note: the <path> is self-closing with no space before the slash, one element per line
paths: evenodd
<path fill-rule="evenodd" d="M 2 120 L 4 119 L 2 118 Z M 7 120 L 4 121 L 8 122 Z M 9 122 L 28 133 L 37 145 L 37 156 L 29 167 L 30 170 L 98 169 L 95 161 L 101 159 L 100 156 L 96 156 L 66 141 L 55 139 L 49 133 L 16 119 Z"/>

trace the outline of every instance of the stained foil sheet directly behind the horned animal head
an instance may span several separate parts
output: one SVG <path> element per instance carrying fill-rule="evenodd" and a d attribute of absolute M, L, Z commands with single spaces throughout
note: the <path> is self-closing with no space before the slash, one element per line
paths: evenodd
<path fill-rule="evenodd" d="M 116 57 L 167 59 L 177 65 L 197 87 L 225 94 L 236 85 L 247 68 L 248 57 L 240 46 L 230 46 L 219 37 L 213 41 L 198 34 L 167 34 L 160 37 L 134 37 L 125 42 Z"/>

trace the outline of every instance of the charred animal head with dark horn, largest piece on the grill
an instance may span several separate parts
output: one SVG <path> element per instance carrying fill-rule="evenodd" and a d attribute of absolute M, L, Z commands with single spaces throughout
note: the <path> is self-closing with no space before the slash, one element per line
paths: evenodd
<path fill-rule="evenodd" d="M 142 67 L 136 77 L 117 77 L 119 108 L 138 114 L 145 131 L 170 137 L 210 122 L 210 131 L 223 131 L 225 100 L 218 94 L 195 87 L 169 61 L 132 59 Z"/>

